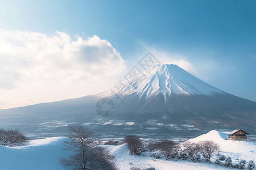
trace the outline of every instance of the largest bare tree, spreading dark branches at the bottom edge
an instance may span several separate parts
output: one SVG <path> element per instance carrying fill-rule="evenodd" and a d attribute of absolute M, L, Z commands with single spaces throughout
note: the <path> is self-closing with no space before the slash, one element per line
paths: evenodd
<path fill-rule="evenodd" d="M 75 154 L 60 163 L 75 166 L 76 169 L 116 169 L 114 156 L 104 148 L 98 147 L 100 142 L 88 128 L 76 125 L 69 127 L 69 140 L 65 141 L 65 150 L 74 150 Z"/>

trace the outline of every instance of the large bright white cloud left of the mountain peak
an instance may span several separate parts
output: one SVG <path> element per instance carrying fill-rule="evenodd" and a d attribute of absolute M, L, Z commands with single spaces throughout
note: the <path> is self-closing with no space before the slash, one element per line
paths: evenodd
<path fill-rule="evenodd" d="M 112 44 L 96 35 L 0 30 L 0 108 L 97 93 L 125 69 Z"/>

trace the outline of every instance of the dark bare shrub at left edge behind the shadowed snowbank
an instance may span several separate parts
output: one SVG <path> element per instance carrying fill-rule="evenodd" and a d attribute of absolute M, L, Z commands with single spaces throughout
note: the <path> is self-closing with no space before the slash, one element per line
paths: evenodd
<path fill-rule="evenodd" d="M 18 146 L 26 143 L 28 139 L 18 129 L 0 129 L 0 145 Z"/>

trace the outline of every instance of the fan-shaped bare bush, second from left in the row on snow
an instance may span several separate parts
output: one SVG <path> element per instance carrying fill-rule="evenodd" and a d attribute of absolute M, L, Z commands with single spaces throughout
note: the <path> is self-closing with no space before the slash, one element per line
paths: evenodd
<path fill-rule="evenodd" d="M 168 158 L 170 158 L 172 152 L 175 151 L 176 143 L 165 140 L 161 142 L 156 142 L 154 146 L 157 150 L 159 150 L 164 155 L 164 157 L 167 160 Z"/>

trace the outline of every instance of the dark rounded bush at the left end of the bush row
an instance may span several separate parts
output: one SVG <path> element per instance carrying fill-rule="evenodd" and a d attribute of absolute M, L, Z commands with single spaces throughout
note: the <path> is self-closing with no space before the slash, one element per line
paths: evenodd
<path fill-rule="evenodd" d="M 125 137 L 125 142 L 131 151 L 131 155 L 138 155 L 138 151 L 143 148 L 143 142 L 137 135 L 127 135 Z"/>

